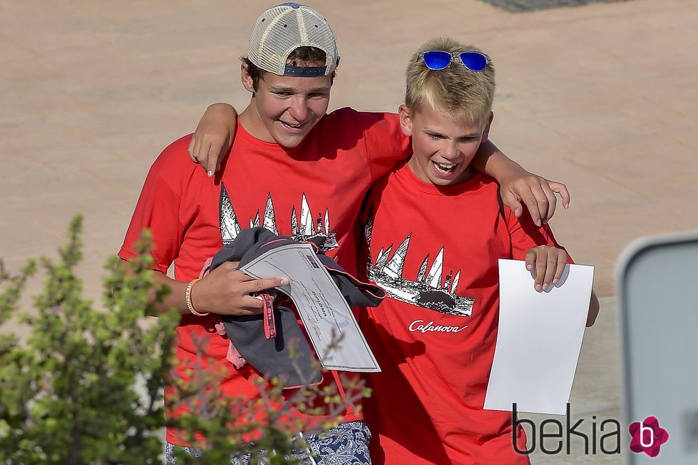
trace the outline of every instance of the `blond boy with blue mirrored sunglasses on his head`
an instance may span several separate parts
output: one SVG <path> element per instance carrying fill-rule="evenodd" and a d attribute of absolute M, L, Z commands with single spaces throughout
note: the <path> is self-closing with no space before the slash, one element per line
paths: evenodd
<path fill-rule="evenodd" d="M 512 432 L 511 413 L 483 410 L 498 258 L 535 262 L 536 281 L 545 270 L 557 283 L 568 257 L 547 225 L 517 219 L 495 180 L 471 167 L 494 90 L 488 56 L 451 38 L 428 41 L 407 66 L 399 116 L 412 155 L 374 184 L 362 217 L 366 274 L 388 294 L 361 314 L 383 370 L 368 374 L 364 401 L 374 463 L 529 463 L 513 449 L 526 440 L 523 428 Z M 597 312 L 592 294 L 587 326 Z"/>

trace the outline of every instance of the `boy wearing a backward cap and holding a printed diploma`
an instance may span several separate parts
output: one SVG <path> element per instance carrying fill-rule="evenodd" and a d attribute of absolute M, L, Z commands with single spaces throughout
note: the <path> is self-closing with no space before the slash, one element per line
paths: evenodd
<path fill-rule="evenodd" d="M 252 279 L 232 263 L 198 279 L 207 258 L 242 228 L 262 225 L 299 240 L 322 237 L 324 251 L 350 273 L 356 271 L 354 223 L 361 201 L 371 183 L 408 154 L 409 140 L 394 115 L 349 108 L 326 115 L 338 61 L 332 31 L 317 11 L 297 4 L 265 11 L 242 63 L 242 83 L 252 98 L 214 182 L 190 163 L 191 136 L 165 148 L 148 172 L 119 256 L 133 258 L 135 241 L 150 229 L 154 267 L 161 272 L 157 279 L 171 290 L 162 306 L 183 315 L 175 371 L 184 380 L 195 364 L 195 340 L 202 340 L 208 364 L 226 369 L 222 395 L 259 396 L 255 380 L 261 375 L 250 365 L 235 369 L 227 362 L 228 341 L 217 335 L 215 325 L 218 315 L 259 313 L 262 303 L 250 293 L 287 281 Z M 165 276 L 170 263 L 175 279 Z M 324 383 L 344 395 L 336 372 Z M 170 387 L 165 398 L 173 394 Z M 316 400 L 322 407 L 322 399 Z M 291 412 L 309 425 L 327 414 Z M 331 435 L 306 437 L 318 454 L 315 461 L 370 463 L 370 434 L 360 412 L 349 405 L 342 414 L 344 423 Z M 166 439 L 168 454 L 175 446 L 190 446 L 173 429 Z"/>

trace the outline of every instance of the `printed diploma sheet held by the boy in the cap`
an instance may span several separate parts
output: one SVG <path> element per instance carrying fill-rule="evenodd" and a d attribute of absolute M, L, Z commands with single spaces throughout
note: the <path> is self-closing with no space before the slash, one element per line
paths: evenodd
<path fill-rule="evenodd" d="M 296 305 L 322 365 L 330 370 L 381 371 L 354 313 L 310 244 L 289 244 L 258 256 L 240 269 L 255 278 L 288 278 L 280 288 Z M 337 348 L 328 350 L 334 335 Z"/>

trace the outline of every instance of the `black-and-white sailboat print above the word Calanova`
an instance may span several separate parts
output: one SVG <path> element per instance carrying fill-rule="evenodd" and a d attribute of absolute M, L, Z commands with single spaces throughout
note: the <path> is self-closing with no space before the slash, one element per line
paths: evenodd
<path fill-rule="evenodd" d="M 431 267 L 428 267 L 429 255 L 422 261 L 416 279 L 404 278 L 404 265 L 412 233 L 393 252 L 393 246 L 381 248 L 373 260 L 371 251 L 371 232 L 373 231 L 373 212 L 364 224 L 364 236 L 369 250 L 366 273 L 371 281 L 385 289 L 386 293 L 399 301 L 418 305 L 422 308 L 436 310 L 448 315 L 471 316 L 474 298 L 456 295 L 461 271 L 448 273 L 443 279 L 443 246 L 436 254 Z M 428 268 L 428 272 L 427 272 Z"/>

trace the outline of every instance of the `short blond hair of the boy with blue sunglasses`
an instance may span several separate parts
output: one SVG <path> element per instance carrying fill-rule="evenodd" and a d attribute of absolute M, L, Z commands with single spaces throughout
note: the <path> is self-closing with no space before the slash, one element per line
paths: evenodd
<path fill-rule="evenodd" d="M 410 110 L 429 105 L 453 120 L 467 119 L 484 122 L 492 110 L 495 80 L 490 61 L 483 71 L 468 70 L 459 58 L 454 58 L 442 70 L 426 67 L 419 54 L 430 50 L 448 53 L 482 51 L 449 37 L 433 38 L 412 56 L 406 70 L 405 104 Z"/>

